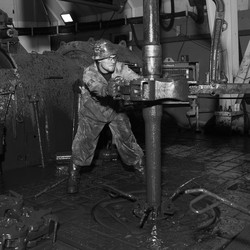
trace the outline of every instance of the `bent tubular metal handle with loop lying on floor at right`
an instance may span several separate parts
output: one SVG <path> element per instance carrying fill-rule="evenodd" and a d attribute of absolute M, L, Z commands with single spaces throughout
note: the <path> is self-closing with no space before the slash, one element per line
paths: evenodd
<path fill-rule="evenodd" d="M 244 207 L 242 207 L 242 206 L 240 206 L 240 205 L 238 205 L 238 204 L 236 204 L 236 203 L 234 203 L 232 201 L 229 201 L 226 198 L 223 198 L 223 197 L 221 197 L 221 196 L 219 196 L 217 194 L 214 194 L 214 193 L 212 193 L 212 192 L 210 192 L 210 191 L 208 191 L 208 190 L 206 190 L 204 188 L 195 188 L 195 189 L 187 189 L 187 190 L 185 190 L 185 194 L 195 194 L 195 193 L 196 194 L 197 193 L 202 193 L 201 195 L 199 195 L 198 197 L 193 199 L 190 202 L 190 205 L 189 205 L 190 209 L 196 214 L 203 214 L 203 213 L 207 212 L 208 210 L 213 209 L 213 208 L 219 206 L 221 203 L 223 203 L 223 204 L 225 204 L 225 205 L 227 205 L 229 207 L 232 207 L 232 208 L 234 208 L 236 210 L 239 210 L 240 212 L 242 212 L 244 214 L 250 215 L 250 210 L 249 209 L 244 208 Z M 215 198 L 217 200 L 217 202 L 214 202 L 211 205 L 209 205 L 209 206 L 207 206 L 207 207 L 205 207 L 203 209 L 194 208 L 195 204 L 197 204 L 199 201 L 201 201 L 202 199 L 204 199 L 205 197 L 208 197 L 208 196 L 210 196 L 212 198 Z"/>

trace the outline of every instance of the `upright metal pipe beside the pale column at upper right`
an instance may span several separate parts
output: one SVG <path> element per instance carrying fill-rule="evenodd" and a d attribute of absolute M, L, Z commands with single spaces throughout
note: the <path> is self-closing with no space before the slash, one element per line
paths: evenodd
<path fill-rule="evenodd" d="M 213 0 L 216 4 L 216 14 L 214 20 L 214 29 L 209 61 L 209 82 L 218 81 L 218 62 L 219 62 L 219 46 L 221 32 L 224 24 L 225 17 L 225 4 L 223 0 Z"/>

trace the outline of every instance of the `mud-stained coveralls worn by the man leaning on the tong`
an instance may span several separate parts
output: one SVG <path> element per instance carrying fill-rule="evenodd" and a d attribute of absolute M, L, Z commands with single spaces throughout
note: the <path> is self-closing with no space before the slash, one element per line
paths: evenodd
<path fill-rule="evenodd" d="M 121 62 L 116 63 L 111 78 L 117 76 L 125 80 L 139 78 L 139 75 Z M 124 112 L 119 111 L 118 102 L 108 96 L 108 81 L 98 71 L 95 62 L 85 69 L 83 83 L 79 125 L 72 144 L 72 171 L 76 171 L 79 166 L 91 165 L 100 133 L 108 124 L 113 137 L 112 141 L 123 163 L 134 166 L 139 174 L 144 174 L 144 154 L 136 142 L 129 118 Z M 75 172 L 71 173 L 73 173 L 72 180 L 75 181 Z M 76 192 L 74 187 L 71 190 L 69 188 L 68 193 Z"/>

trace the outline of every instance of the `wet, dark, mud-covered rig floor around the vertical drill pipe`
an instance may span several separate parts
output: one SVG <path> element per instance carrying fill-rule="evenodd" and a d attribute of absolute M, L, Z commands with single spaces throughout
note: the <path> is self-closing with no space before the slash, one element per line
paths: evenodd
<path fill-rule="evenodd" d="M 207 135 L 174 128 L 164 131 L 162 138 L 163 201 L 187 183 L 183 190 L 203 188 L 250 209 L 248 135 Z M 133 214 L 135 202 L 107 190 L 113 187 L 143 200 L 145 184 L 124 169 L 119 159 L 99 157 L 95 163 L 90 172 L 82 173 L 80 192 L 75 195 L 66 194 L 66 182 L 62 182 L 35 197 L 65 178 L 58 174 L 56 163 L 3 172 L 2 194 L 13 190 L 23 195 L 26 206 L 52 208 L 59 218 L 56 242 L 41 240 L 32 249 L 236 249 L 230 245 L 250 225 L 248 214 L 222 203 L 195 214 L 189 208 L 195 197 L 184 194 L 173 201 L 172 215 L 147 221 L 140 228 L 140 218 Z M 237 245 L 237 249 L 249 248 L 249 237 Z"/>

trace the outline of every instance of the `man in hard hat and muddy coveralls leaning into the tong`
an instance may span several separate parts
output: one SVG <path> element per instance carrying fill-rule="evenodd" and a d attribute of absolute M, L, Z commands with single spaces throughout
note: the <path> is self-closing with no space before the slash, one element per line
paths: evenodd
<path fill-rule="evenodd" d="M 136 175 L 144 178 L 144 154 L 131 130 L 124 111 L 110 91 L 114 79 L 133 80 L 140 76 L 126 64 L 117 61 L 117 49 L 108 40 L 100 39 L 93 46 L 93 64 L 83 72 L 79 124 L 72 143 L 67 192 L 79 191 L 80 170 L 92 163 L 97 142 L 104 126 L 108 124 L 112 142 L 116 145 L 123 164 L 133 166 Z"/>

